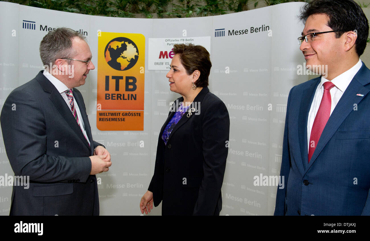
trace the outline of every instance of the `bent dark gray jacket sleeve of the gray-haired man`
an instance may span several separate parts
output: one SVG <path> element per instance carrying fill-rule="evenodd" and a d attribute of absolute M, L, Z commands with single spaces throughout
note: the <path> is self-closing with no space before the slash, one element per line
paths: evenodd
<path fill-rule="evenodd" d="M 89 157 L 46 154 L 48 126 L 39 101 L 32 93 L 16 90 L 8 96 L 1 111 L 4 145 L 14 174 L 39 182 L 71 179 L 85 182 L 91 172 Z"/>

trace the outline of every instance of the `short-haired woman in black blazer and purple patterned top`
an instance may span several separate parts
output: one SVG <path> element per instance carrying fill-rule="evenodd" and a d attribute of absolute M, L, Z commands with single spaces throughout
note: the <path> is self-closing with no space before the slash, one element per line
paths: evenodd
<path fill-rule="evenodd" d="M 141 213 L 162 201 L 162 215 L 219 215 L 228 155 L 229 113 L 209 92 L 209 52 L 174 45 L 168 78 L 176 99 L 159 132 L 155 169 L 140 201 Z"/>

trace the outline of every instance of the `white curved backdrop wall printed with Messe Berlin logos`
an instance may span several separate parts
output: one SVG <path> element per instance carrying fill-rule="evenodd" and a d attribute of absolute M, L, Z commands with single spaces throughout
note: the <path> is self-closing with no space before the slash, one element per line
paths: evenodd
<path fill-rule="evenodd" d="M 179 97 L 169 91 L 167 71 L 147 69 L 148 39 L 211 36 L 209 88 L 225 102 L 231 123 L 221 215 L 272 215 L 277 187 L 254 186 L 253 177 L 279 175 L 287 95 L 292 86 L 313 78 L 297 75 L 296 71 L 297 65 L 305 62 L 297 41 L 303 29 L 296 18 L 301 6 L 302 3 L 286 3 L 213 17 L 137 19 L 0 2 L 0 19 L 5 23 L 0 25 L 0 107 L 11 90 L 34 78 L 42 68 L 38 47 L 47 28 L 81 30 L 90 45 L 95 70 L 78 89 L 84 96 L 93 138 L 107 147 L 113 163 L 109 172 L 98 175 L 102 182 L 100 213 L 139 215 L 140 198 L 154 172 L 159 130 L 168 115 L 169 103 Z M 34 29 L 23 28 L 24 20 L 34 24 Z M 261 31 L 251 33 L 251 27 L 261 26 Z M 215 37 L 215 30 L 222 28 L 224 36 Z M 235 35 L 235 31 L 245 29 L 248 34 Z M 96 128 L 98 30 L 145 36 L 144 131 Z M 158 100 L 166 100 L 166 106 Z M 144 141 L 144 147 L 132 146 L 140 141 Z M 14 175 L 2 136 L 0 158 L 0 176 Z M 9 215 L 11 190 L 0 186 L 1 215 Z M 149 215 L 160 214 L 161 206 Z"/>

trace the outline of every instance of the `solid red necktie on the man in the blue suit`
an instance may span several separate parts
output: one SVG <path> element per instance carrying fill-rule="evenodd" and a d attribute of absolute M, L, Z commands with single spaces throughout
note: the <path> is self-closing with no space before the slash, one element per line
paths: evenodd
<path fill-rule="evenodd" d="M 313 121 L 310 143 L 308 148 L 308 162 L 310 162 L 313 152 L 319 142 L 321 133 L 330 117 L 330 109 L 332 108 L 332 96 L 330 96 L 330 89 L 335 85 L 330 82 L 324 82 L 324 94 L 321 99 L 319 110 L 317 111 L 315 120 Z"/>

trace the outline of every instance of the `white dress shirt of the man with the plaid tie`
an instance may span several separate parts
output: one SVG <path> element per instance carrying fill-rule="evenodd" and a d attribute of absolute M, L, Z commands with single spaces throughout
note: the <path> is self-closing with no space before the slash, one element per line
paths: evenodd
<path fill-rule="evenodd" d="M 55 88 L 57 88 L 58 92 L 63 97 L 65 103 L 68 105 L 68 108 L 71 110 L 71 114 L 72 114 L 70 101 L 68 99 L 67 94 L 65 94 L 65 92 L 64 92 L 64 91 L 68 90 L 69 88 L 67 86 L 65 86 L 65 84 L 63 84 L 59 79 L 55 78 L 53 75 L 51 75 L 49 72 L 47 72 L 46 70 L 44 70 L 43 75 L 45 75 L 45 77 L 51 82 L 51 84 L 53 84 L 55 86 Z M 73 98 L 73 103 L 74 103 L 74 108 L 76 109 L 76 112 L 77 112 L 78 123 L 80 124 L 82 133 L 84 134 L 87 142 L 90 145 L 90 140 L 89 140 L 89 138 L 87 137 L 87 134 L 86 134 L 85 123 L 82 119 L 80 108 L 78 108 L 77 101 L 75 101 L 74 98 Z"/>

